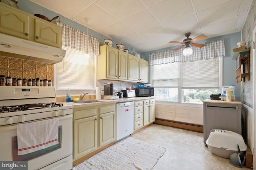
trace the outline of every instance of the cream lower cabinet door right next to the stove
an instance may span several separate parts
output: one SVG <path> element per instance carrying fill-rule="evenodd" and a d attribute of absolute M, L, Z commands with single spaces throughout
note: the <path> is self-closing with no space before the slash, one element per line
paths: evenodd
<path fill-rule="evenodd" d="M 97 116 L 74 121 L 73 158 L 97 149 Z"/>

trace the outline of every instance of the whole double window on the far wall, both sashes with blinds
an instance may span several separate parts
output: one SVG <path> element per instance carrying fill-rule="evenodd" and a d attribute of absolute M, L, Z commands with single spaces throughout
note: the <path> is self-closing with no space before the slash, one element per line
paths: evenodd
<path fill-rule="evenodd" d="M 200 103 L 219 93 L 222 57 L 151 66 L 156 100 Z"/>

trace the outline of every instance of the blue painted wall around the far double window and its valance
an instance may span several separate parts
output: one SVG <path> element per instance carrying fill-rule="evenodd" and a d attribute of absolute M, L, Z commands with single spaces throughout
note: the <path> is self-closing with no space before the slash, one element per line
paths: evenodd
<path fill-rule="evenodd" d="M 241 41 L 241 33 L 238 32 L 238 33 L 232 33 L 232 34 L 222 35 L 222 36 L 218 36 L 218 37 L 208 38 L 208 39 L 198 41 L 197 43 L 217 41 L 220 39 L 224 39 L 225 51 L 226 51 L 226 57 L 223 57 L 223 80 L 222 80 L 223 86 L 224 85 L 225 86 L 235 85 L 236 100 L 241 101 L 241 83 L 237 83 L 235 80 L 235 77 L 236 77 L 235 63 L 236 63 L 236 61 L 232 60 L 232 57 L 234 54 L 233 49 L 237 48 L 237 43 Z M 151 53 L 176 49 L 179 46 L 180 45 L 170 47 L 170 48 L 155 50 L 155 51 L 149 51 L 146 53 L 142 53 L 142 55 L 144 56 L 144 59 L 149 61 L 149 55 Z"/>

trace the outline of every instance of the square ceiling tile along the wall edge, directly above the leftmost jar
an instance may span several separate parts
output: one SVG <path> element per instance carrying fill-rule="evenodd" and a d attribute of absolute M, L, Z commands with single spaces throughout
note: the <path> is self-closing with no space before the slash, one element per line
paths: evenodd
<path fill-rule="evenodd" d="M 100 30 L 100 32 L 104 33 L 104 35 L 107 35 L 107 37 L 111 37 L 113 39 L 120 39 L 122 37 L 126 37 L 135 33 L 130 28 L 126 27 L 120 22 L 114 23 L 113 25 L 110 25 Z"/>

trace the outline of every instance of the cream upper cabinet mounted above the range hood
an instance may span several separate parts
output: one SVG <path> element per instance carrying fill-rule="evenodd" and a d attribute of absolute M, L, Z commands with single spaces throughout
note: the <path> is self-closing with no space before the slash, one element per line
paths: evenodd
<path fill-rule="evenodd" d="M 61 48 L 61 27 L 0 3 L 0 32 Z"/>

